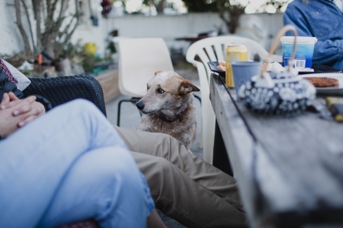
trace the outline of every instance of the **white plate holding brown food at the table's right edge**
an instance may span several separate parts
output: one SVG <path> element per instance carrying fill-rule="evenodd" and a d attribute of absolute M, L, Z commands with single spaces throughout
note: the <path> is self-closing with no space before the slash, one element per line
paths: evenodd
<path fill-rule="evenodd" d="M 317 94 L 343 94 L 343 73 L 315 73 L 299 75 L 300 77 L 332 77 L 338 79 L 339 87 L 320 88 L 316 87 Z"/>

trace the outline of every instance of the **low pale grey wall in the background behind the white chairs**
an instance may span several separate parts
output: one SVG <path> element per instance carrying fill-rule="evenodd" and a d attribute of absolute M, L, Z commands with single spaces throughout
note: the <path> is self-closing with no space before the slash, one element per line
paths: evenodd
<path fill-rule="evenodd" d="M 266 31 L 261 43 L 266 49 L 269 49 L 277 31 L 283 27 L 282 18 L 283 14 L 244 14 L 241 17 L 241 23 L 258 21 Z M 189 42 L 177 41 L 175 38 L 193 36 L 200 32 L 215 30 L 218 27 L 222 27 L 224 32 L 227 32 L 223 21 L 216 13 L 174 16 L 132 15 L 107 18 L 103 21 L 106 30 L 118 29 L 119 36 L 128 38 L 162 37 L 168 47 L 182 47 L 184 52 L 189 47 Z M 244 34 L 244 31 L 240 32 Z"/>

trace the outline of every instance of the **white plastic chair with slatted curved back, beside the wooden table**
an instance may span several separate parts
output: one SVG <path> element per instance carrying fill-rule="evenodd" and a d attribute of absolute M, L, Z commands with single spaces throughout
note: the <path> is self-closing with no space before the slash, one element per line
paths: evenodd
<path fill-rule="evenodd" d="M 268 57 L 266 51 L 258 42 L 249 38 L 240 36 L 215 36 L 204 38 L 194 42 L 187 50 L 187 62 L 198 68 L 200 92 L 202 97 L 202 145 L 204 153 L 204 161 L 212 164 L 213 158 L 213 141 L 215 132 L 215 114 L 209 99 L 209 79 L 211 71 L 207 62 L 222 60 L 225 61 L 225 49 L 228 44 L 244 44 L 248 49 L 248 59 L 252 60 L 255 53 L 259 55 L 261 60 Z M 200 61 L 196 60 L 199 56 Z M 280 55 L 273 55 L 272 61 L 281 62 Z"/>

